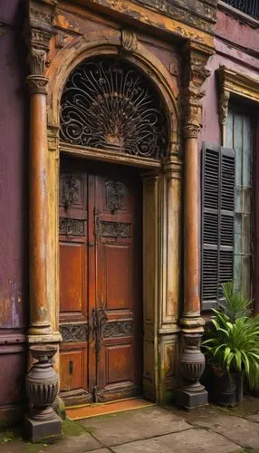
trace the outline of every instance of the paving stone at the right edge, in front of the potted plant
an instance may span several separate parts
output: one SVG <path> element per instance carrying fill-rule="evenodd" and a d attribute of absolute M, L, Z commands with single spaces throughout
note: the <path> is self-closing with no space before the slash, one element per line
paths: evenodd
<path fill-rule="evenodd" d="M 195 425 L 212 429 L 243 448 L 259 448 L 259 429 L 253 421 L 225 414 L 215 414 L 193 421 Z"/>

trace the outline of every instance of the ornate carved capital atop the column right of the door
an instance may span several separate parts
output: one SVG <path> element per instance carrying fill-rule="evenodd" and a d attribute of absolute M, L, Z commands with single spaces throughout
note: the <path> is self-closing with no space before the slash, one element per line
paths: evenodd
<path fill-rule="evenodd" d="M 206 70 L 210 49 L 188 42 L 183 57 L 184 137 L 197 138 L 201 127 L 202 104 L 205 94 L 202 85 L 210 72 Z"/>

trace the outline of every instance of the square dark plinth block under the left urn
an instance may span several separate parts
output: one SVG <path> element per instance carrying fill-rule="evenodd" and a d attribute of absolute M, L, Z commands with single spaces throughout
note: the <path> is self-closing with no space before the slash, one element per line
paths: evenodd
<path fill-rule="evenodd" d="M 26 416 L 24 431 L 26 438 L 34 443 L 53 443 L 62 437 L 62 419 L 56 414 L 48 420 L 34 420 Z"/>

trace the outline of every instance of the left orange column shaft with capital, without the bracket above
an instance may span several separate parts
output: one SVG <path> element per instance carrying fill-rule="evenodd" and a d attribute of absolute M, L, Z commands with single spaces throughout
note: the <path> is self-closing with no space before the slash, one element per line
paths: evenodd
<path fill-rule="evenodd" d="M 31 48 L 30 92 L 30 329 L 31 335 L 51 333 L 47 304 L 47 128 L 48 79 L 43 77 L 46 53 Z"/>

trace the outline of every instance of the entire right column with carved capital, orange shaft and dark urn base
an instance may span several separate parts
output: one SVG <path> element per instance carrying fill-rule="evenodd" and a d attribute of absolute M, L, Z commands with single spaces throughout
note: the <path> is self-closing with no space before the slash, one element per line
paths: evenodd
<path fill-rule="evenodd" d="M 184 48 L 184 311 L 180 319 L 182 386 L 177 403 L 187 409 L 207 403 L 207 392 L 199 383 L 205 368 L 200 352 L 204 320 L 200 316 L 200 181 L 197 137 L 201 127 L 201 85 L 209 72 L 205 69 L 211 49 L 196 43 Z"/>

